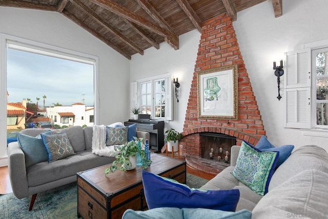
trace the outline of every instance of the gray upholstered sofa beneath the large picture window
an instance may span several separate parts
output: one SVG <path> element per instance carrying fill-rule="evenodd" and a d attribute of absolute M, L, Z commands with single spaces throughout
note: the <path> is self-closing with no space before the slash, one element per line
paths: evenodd
<path fill-rule="evenodd" d="M 24 129 L 23 134 L 37 136 L 45 129 Z M 110 164 L 115 157 L 98 156 L 91 152 L 93 128 L 72 126 L 52 129 L 53 134 L 66 132 L 74 155 L 49 163 L 47 161 L 26 168 L 23 150 L 17 142 L 8 145 L 8 170 L 11 187 L 17 198 L 33 195 L 29 210 L 32 210 L 36 194 L 76 181 L 76 173 Z M 137 131 L 137 137 L 149 139 L 149 133 Z"/>

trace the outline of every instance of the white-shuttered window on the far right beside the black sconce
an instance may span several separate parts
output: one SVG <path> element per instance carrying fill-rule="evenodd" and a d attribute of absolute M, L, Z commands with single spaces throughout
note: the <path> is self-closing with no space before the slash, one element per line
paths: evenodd
<path fill-rule="evenodd" d="M 286 52 L 284 127 L 328 129 L 328 41 Z"/>

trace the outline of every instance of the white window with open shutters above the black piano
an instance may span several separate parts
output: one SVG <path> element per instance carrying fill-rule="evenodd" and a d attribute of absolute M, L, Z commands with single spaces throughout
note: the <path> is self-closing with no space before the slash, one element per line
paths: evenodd
<path fill-rule="evenodd" d="M 172 76 L 163 74 L 131 83 L 131 108 L 153 120 L 173 120 Z M 132 114 L 131 114 L 132 117 Z"/>

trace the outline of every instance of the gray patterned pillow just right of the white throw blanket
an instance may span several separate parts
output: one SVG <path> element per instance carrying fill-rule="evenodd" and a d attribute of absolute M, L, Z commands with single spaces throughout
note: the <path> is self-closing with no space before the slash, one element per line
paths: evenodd
<path fill-rule="evenodd" d="M 129 127 L 107 127 L 106 145 L 124 145 L 128 142 Z"/>

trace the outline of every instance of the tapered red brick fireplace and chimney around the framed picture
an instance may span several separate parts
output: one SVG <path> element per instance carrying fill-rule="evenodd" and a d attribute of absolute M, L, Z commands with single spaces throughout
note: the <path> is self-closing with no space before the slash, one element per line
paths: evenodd
<path fill-rule="evenodd" d="M 238 69 L 238 120 L 198 118 L 197 72 L 233 64 L 236 64 Z M 234 136 L 237 145 L 240 145 L 243 140 L 256 144 L 260 136 L 265 135 L 260 111 L 239 50 L 235 30 L 227 14 L 214 17 L 202 24 L 185 124 L 183 125 L 182 134 L 185 137 L 180 143 L 180 153 L 186 158 L 201 156 L 200 133 L 202 132 Z"/>

